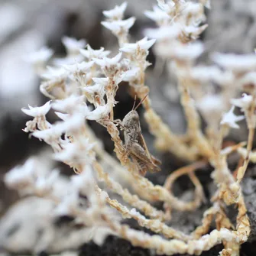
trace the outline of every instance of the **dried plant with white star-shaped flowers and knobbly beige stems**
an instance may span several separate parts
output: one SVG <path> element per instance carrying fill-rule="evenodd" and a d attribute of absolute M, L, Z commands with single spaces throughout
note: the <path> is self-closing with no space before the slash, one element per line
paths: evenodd
<path fill-rule="evenodd" d="M 240 183 L 249 161 L 255 162 L 256 158 L 255 153 L 251 153 L 256 122 L 256 56 L 254 53 L 213 53 L 215 65 L 197 65 L 196 59 L 204 50 L 197 38 L 207 28 L 204 7 L 210 7 L 209 1 L 157 0 L 157 3 L 153 11 L 145 11 L 157 28 L 146 29 L 146 37 L 136 43 L 129 41 L 129 29 L 135 18 L 123 19 L 126 3 L 103 11 L 106 20 L 102 25 L 118 39 L 120 51 L 114 57 L 109 57 L 110 52 L 104 48 L 93 50 L 86 41 L 70 37 L 63 38 L 67 56 L 53 60 L 52 66 L 45 68 L 52 50 L 44 48 L 31 54 L 29 60 L 42 78 L 41 92 L 51 101 L 41 107 L 22 109 L 33 118 L 26 123 L 24 131 L 49 144 L 54 159 L 69 165 L 76 175 L 70 178 L 67 187 L 60 189 L 56 186 L 60 175 L 57 170 L 41 170 L 34 160 L 28 160 L 24 166 L 10 171 L 5 183 L 22 194 L 53 200 L 56 203 L 53 214 L 72 215 L 88 227 L 105 228 L 108 232 L 97 239 L 99 244 L 111 233 L 132 245 L 154 249 L 157 254 L 199 255 L 222 243 L 221 255 L 239 255 L 240 245 L 250 234 Z M 187 127 L 182 136 L 173 134 L 151 105 L 145 70 L 151 65 L 147 55 L 153 45 L 156 57 L 167 62 L 168 69 L 177 76 Z M 147 170 L 158 170 L 159 162 L 147 150 L 138 113 L 133 110 L 133 115 L 127 115 L 123 122 L 115 120 L 115 108 L 118 108 L 115 95 L 122 81 L 141 99 L 144 118 L 155 137 L 157 150 L 169 151 L 190 163 L 171 173 L 164 186 L 154 185 L 144 177 Z M 233 99 L 241 92 L 241 98 Z M 243 115 L 235 115 L 235 108 Z M 47 122 L 50 109 L 56 111 L 61 121 Z M 201 129 L 200 116 L 206 122 L 205 132 Z M 248 127 L 248 141 L 224 147 L 223 140 L 230 129 L 239 128 L 237 122 L 242 119 Z M 104 151 L 87 120 L 98 122 L 109 132 L 118 160 Z M 125 143 L 118 127 L 125 131 Z M 227 164 L 233 151 L 244 157 L 236 177 Z M 107 164 L 112 172 L 105 170 Z M 206 164 L 214 168 L 211 177 L 218 189 L 212 197 L 212 207 L 203 214 L 202 225 L 185 234 L 166 223 L 173 209 L 194 211 L 201 205 L 203 186 L 195 172 Z M 195 186 L 191 202 L 173 196 L 172 184 L 182 175 L 188 175 Z M 124 182 L 136 194 L 125 189 Z M 120 200 L 112 199 L 109 192 L 118 194 Z M 80 203 L 81 195 L 86 196 L 85 204 Z M 157 201 L 164 203 L 164 209 L 153 206 Z M 225 214 L 225 206 L 229 205 L 238 208 L 235 227 Z M 123 225 L 117 212 L 123 219 L 135 219 L 158 235 Z M 214 221 L 215 229 L 209 232 Z"/>

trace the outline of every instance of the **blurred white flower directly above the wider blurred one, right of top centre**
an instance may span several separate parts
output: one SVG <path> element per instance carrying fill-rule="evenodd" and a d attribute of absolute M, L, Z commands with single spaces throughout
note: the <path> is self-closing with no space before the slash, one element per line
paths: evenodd
<path fill-rule="evenodd" d="M 160 28 L 147 28 L 144 34 L 150 38 L 156 38 L 159 41 L 173 40 L 180 34 L 180 26 L 177 24 L 163 26 Z"/>

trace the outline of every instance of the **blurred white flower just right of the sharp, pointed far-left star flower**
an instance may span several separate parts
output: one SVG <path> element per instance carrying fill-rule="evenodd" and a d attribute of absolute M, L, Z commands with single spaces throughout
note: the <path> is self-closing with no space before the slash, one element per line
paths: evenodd
<path fill-rule="evenodd" d="M 57 99 L 52 103 L 52 107 L 57 111 L 69 113 L 84 104 L 84 96 L 70 96 L 66 99 Z"/>

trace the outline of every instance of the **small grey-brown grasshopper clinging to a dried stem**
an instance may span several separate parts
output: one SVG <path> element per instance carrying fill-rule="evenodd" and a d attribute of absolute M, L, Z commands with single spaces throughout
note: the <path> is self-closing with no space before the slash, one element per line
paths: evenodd
<path fill-rule="evenodd" d="M 134 105 L 130 112 L 125 115 L 125 118 L 119 125 L 124 130 L 125 135 L 125 154 L 127 157 L 131 157 L 134 164 L 137 165 L 139 173 L 144 176 L 147 170 L 151 172 L 160 171 L 160 160 L 157 160 L 150 154 L 147 149 L 147 144 L 144 141 L 143 135 L 141 134 L 140 118 L 136 109 L 146 99 L 147 95 L 141 99 L 136 108 L 134 108 L 136 97 L 134 99 Z"/>

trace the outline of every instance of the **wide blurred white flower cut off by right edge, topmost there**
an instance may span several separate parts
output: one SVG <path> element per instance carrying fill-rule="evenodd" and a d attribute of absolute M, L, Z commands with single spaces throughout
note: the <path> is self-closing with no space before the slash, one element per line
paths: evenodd
<path fill-rule="evenodd" d="M 235 72 L 246 72 L 256 69 L 255 54 L 213 53 L 212 60 L 219 66 Z"/>

